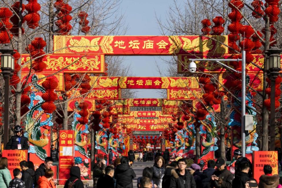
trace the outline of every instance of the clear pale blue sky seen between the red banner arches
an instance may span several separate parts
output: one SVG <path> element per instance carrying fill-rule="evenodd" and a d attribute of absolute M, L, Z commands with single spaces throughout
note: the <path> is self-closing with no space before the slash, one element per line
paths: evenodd
<path fill-rule="evenodd" d="M 166 12 L 172 0 L 123 0 L 120 8 L 124 14 L 126 35 L 160 35 L 156 15 L 165 20 Z M 164 71 L 167 64 L 158 56 L 126 56 L 124 66 L 130 65 L 132 75 L 127 76 L 160 76 L 156 63 Z M 177 67 L 175 67 L 177 68 Z M 161 98 L 157 90 L 137 90 L 137 98 Z"/>

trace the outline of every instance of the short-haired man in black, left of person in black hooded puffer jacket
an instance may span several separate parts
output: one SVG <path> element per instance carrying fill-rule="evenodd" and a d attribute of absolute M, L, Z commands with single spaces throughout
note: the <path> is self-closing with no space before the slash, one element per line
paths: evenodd
<path fill-rule="evenodd" d="M 107 166 L 105 168 L 105 175 L 100 177 L 97 182 L 97 188 L 114 188 L 114 167 L 113 166 Z"/>

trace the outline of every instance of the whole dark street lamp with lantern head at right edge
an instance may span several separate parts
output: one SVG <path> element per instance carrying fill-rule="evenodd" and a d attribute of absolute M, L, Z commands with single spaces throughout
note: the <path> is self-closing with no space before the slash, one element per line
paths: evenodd
<path fill-rule="evenodd" d="M 266 51 L 266 71 L 270 78 L 270 151 L 275 150 L 275 80 L 280 74 L 280 53 L 282 50 L 277 46 L 271 46 Z"/>

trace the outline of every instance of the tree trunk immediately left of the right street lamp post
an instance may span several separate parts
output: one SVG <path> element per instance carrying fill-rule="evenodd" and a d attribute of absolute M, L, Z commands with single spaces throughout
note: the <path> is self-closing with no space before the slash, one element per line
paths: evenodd
<path fill-rule="evenodd" d="M 270 31 L 269 31 L 269 17 L 266 16 L 265 21 L 265 45 L 264 50 L 269 49 L 269 39 L 270 39 Z M 266 99 L 266 66 L 264 66 L 264 73 L 263 73 L 263 101 Z M 261 150 L 262 151 L 268 151 L 268 109 L 262 103 L 262 137 L 261 137 Z"/>

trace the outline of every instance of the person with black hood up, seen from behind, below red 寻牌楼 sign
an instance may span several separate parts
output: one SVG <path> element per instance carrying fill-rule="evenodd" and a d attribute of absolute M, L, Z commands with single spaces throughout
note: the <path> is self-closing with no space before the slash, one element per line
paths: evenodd
<path fill-rule="evenodd" d="M 70 167 L 70 178 L 66 181 L 64 188 L 84 188 L 83 182 L 80 179 L 80 168 Z"/>

